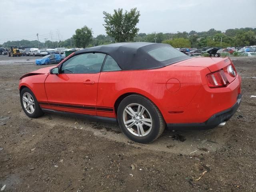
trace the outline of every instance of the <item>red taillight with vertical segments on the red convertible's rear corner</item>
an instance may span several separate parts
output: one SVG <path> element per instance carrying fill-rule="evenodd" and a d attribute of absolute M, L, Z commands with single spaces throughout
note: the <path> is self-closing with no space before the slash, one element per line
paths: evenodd
<path fill-rule="evenodd" d="M 210 88 L 226 87 L 228 85 L 228 79 L 223 70 L 206 75 L 206 79 Z"/>

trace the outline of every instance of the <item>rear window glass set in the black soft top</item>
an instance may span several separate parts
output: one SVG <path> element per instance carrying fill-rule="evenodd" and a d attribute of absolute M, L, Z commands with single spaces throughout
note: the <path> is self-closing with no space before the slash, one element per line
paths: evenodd
<path fill-rule="evenodd" d="M 148 51 L 148 54 L 158 61 L 166 61 L 180 56 L 185 56 L 184 53 L 174 49 L 173 47 L 159 47 Z"/>

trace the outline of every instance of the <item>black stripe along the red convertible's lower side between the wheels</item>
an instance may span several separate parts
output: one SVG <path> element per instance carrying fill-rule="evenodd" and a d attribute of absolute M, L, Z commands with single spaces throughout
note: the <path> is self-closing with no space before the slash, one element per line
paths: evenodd
<path fill-rule="evenodd" d="M 114 111 L 113 108 L 110 108 L 110 107 L 82 106 L 82 105 L 48 103 L 48 102 L 38 102 L 38 104 L 39 105 L 56 106 L 56 107 L 83 109 L 83 110 L 97 110 L 97 111 L 106 111 L 106 112 L 113 112 Z"/>

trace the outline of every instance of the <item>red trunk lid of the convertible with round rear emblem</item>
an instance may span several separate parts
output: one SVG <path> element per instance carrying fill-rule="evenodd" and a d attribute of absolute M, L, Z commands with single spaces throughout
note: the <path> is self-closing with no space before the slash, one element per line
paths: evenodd
<path fill-rule="evenodd" d="M 228 57 L 226 58 L 197 57 L 197 58 L 185 60 L 176 64 L 176 66 L 207 67 L 211 72 L 215 72 L 222 69 L 228 79 L 228 82 L 231 83 L 232 81 L 235 80 L 237 76 L 237 72 L 235 70 L 236 76 L 235 77 L 232 76 L 232 74 L 228 70 L 228 67 L 230 65 L 232 65 L 232 67 L 235 70 L 235 67 L 232 61 Z"/>

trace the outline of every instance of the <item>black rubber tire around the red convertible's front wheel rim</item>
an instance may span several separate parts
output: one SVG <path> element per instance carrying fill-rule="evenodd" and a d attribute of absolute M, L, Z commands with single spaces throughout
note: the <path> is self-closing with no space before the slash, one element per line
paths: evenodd
<path fill-rule="evenodd" d="M 29 93 L 33 100 L 34 100 L 34 112 L 33 113 L 28 113 L 24 107 L 24 104 L 23 104 L 23 100 L 22 100 L 22 97 L 25 93 Z M 40 108 L 39 104 L 38 104 L 38 101 L 36 100 L 36 96 L 34 95 L 34 93 L 29 89 L 29 88 L 23 88 L 20 92 L 20 104 L 22 106 L 22 109 L 23 111 L 25 112 L 25 114 L 27 116 L 29 116 L 30 118 L 38 118 L 40 116 L 42 116 L 44 114 L 44 112 L 42 111 L 42 109 Z"/>

